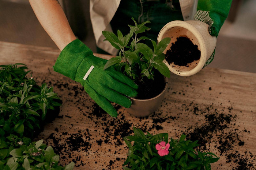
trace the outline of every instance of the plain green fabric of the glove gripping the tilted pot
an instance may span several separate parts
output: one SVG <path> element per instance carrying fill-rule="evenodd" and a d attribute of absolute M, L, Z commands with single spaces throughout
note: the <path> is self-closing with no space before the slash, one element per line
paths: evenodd
<path fill-rule="evenodd" d="M 213 24 L 210 33 L 212 36 L 218 36 L 219 31 L 226 20 L 232 0 L 199 0 L 197 11 L 209 11 Z"/>

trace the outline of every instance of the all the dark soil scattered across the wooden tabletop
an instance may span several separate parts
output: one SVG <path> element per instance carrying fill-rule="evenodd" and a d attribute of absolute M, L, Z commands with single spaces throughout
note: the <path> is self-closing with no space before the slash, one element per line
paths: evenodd
<path fill-rule="evenodd" d="M 163 111 L 161 109 L 147 117 L 132 118 L 127 116 L 121 106 L 114 104 L 118 117 L 111 118 L 93 100 L 86 96 L 87 94 L 82 86 L 61 83 L 58 80 L 54 84 L 59 87 L 59 91 L 63 91 L 60 94 L 67 92 L 67 89 L 69 89 L 70 94 L 63 101 L 64 103 L 68 101 L 77 108 L 72 110 L 73 114 L 58 117 L 58 119 L 67 120 L 67 126 L 71 129 L 71 132 L 63 131 L 61 126 L 59 127 L 54 123 L 54 131 L 49 137 L 45 137 L 46 142 L 53 146 L 54 152 L 60 154 L 62 160 L 73 161 L 76 163 L 76 167 L 81 166 L 82 168 L 83 166 L 84 168 L 88 164 L 95 163 L 97 165 L 100 164 L 102 169 L 120 169 L 119 165 L 125 161 L 122 155 L 124 155 L 124 152 L 128 152 L 123 137 L 133 135 L 133 126 L 140 128 L 144 132 L 149 131 L 151 134 L 167 132 L 169 137 L 172 136 L 174 138 L 178 138 L 184 133 L 187 135 L 187 139 L 192 141 L 199 140 L 200 147 L 197 148 L 198 150 L 212 151 L 218 156 L 224 157 L 227 165 L 230 165 L 234 170 L 249 170 L 253 169 L 253 165 L 255 165 L 255 162 L 253 162 L 255 155 L 250 151 L 235 150 L 235 148 L 239 149 L 246 146 L 246 140 L 241 138 L 241 134 L 250 133 L 250 131 L 236 126 L 237 110 L 234 111 L 233 106 L 221 108 L 221 104 L 215 107 L 216 105 L 214 104 L 199 106 L 195 103 L 185 103 L 182 106 L 177 106 L 175 111 L 168 109 L 163 109 Z M 214 89 L 209 88 L 209 92 L 214 91 Z M 70 98 L 70 96 L 75 95 L 77 95 L 76 98 Z M 180 98 L 186 96 L 184 91 L 175 91 L 173 95 L 180 95 Z M 169 103 L 163 102 L 162 104 L 164 108 Z M 182 113 L 175 113 L 178 110 L 182 110 L 180 111 Z M 75 118 L 75 115 L 79 118 Z M 176 122 L 184 122 L 184 118 L 187 117 L 189 119 L 190 115 L 195 116 L 200 121 L 193 126 L 186 127 L 185 124 L 184 127 L 177 126 Z M 73 119 L 76 119 L 78 124 L 88 124 L 88 128 L 81 129 L 78 125 L 73 127 L 73 124 L 69 123 Z M 138 119 L 139 121 L 134 121 Z M 168 128 L 170 131 L 166 131 L 166 124 L 168 125 L 169 123 L 172 128 Z M 64 129 L 67 129 L 67 127 Z M 104 148 L 108 147 L 108 145 L 112 146 L 111 149 L 104 151 Z M 212 148 L 215 148 L 215 150 L 212 150 Z M 112 157 L 112 159 L 99 161 L 98 158 L 99 156 L 102 157 L 102 155 L 106 158 Z M 86 157 L 95 158 L 95 161 L 86 162 Z M 219 166 L 221 167 L 222 165 Z"/>

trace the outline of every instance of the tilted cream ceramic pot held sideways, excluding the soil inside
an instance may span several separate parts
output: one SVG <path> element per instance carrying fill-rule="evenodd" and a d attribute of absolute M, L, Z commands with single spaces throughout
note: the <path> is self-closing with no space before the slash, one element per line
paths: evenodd
<path fill-rule="evenodd" d="M 190 76 L 196 74 L 203 68 L 214 51 L 217 41 L 215 36 L 210 35 L 208 27 L 208 24 L 201 21 L 171 21 L 161 29 L 157 37 L 157 42 L 165 37 L 171 38 L 170 44 L 163 52 L 164 54 L 170 49 L 172 43 L 177 41 L 177 37 L 180 36 L 188 37 L 201 51 L 200 59 L 188 64 L 189 67 L 177 66 L 174 63 L 168 64 L 167 61 L 164 60 L 163 62 L 168 66 L 171 72 L 180 76 Z"/>

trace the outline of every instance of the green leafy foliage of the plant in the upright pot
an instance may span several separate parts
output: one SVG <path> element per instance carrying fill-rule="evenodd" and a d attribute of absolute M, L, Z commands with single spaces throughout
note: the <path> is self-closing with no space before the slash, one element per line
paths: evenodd
<path fill-rule="evenodd" d="M 119 71 L 122 71 L 133 80 L 142 80 L 143 77 L 153 79 L 153 68 L 157 69 L 162 75 L 170 77 L 170 71 L 163 63 L 165 59 L 163 51 L 170 43 L 170 38 L 165 38 L 157 44 L 147 37 L 138 37 L 139 33 L 150 30 L 150 28 L 145 26 L 150 21 L 137 24 L 133 18 L 132 20 L 135 26 L 128 25 L 130 32 L 125 36 L 119 30 L 117 31 L 117 35 L 113 32 L 102 31 L 106 38 L 105 40 L 108 40 L 113 47 L 120 50 L 116 58 L 108 60 L 104 69 L 115 65 Z M 150 40 L 154 49 L 152 50 L 146 44 L 140 43 L 140 40 Z"/>

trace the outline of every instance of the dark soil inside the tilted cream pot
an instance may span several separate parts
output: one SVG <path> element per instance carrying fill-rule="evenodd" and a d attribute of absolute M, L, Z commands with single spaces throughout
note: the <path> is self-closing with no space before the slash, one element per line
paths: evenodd
<path fill-rule="evenodd" d="M 177 66 L 186 66 L 193 61 L 199 60 L 201 51 L 187 37 L 177 37 L 177 41 L 172 43 L 170 50 L 166 51 L 165 59 L 168 64 L 174 63 Z"/>

